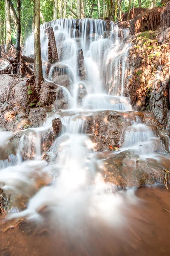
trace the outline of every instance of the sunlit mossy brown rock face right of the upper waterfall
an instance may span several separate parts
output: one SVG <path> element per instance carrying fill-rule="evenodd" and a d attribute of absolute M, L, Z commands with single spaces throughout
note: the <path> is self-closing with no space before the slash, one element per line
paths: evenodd
<path fill-rule="evenodd" d="M 167 34 L 159 31 L 134 36 L 125 88 L 133 109 L 153 112 L 162 125 L 167 125 L 169 119 L 170 46 L 165 42 Z"/>

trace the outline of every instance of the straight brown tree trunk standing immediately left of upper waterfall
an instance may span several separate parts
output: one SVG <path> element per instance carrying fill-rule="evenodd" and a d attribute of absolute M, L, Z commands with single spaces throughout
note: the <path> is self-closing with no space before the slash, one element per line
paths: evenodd
<path fill-rule="evenodd" d="M 35 60 L 34 60 L 34 76 L 35 87 L 39 95 L 42 76 L 42 61 L 41 61 L 41 43 L 40 43 L 40 0 L 34 0 L 34 48 L 35 48 Z"/>

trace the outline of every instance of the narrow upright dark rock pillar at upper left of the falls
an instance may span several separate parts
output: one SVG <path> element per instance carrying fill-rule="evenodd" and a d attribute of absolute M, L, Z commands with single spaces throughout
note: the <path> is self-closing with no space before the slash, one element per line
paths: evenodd
<path fill-rule="evenodd" d="M 53 28 L 51 26 L 47 27 L 46 32 L 48 32 L 48 61 L 55 63 L 59 58 Z"/>

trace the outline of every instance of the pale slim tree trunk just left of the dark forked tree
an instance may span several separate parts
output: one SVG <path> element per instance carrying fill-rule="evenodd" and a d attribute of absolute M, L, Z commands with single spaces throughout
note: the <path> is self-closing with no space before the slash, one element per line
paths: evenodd
<path fill-rule="evenodd" d="M 6 0 L 6 49 L 11 47 L 11 17 L 10 17 L 10 4 Z"/>

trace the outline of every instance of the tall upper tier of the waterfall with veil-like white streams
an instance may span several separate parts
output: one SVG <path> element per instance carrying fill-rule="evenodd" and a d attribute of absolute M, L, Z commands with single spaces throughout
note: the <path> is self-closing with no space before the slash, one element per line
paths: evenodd
<path fill-rule="evenodd" d="M 54 31 L 58 55 L 58 61 L 52 65 L 47 63 L 49 26 Z M 111 97 L 106 97 L 123 96 L 130 47 L 123 44 L 127 36 L 127 29 L 120 30 L 116 23 L 100 19 L 58 19 L 44 23 L 41 25 L 43 75 L 68 89 L 67 94 L 72 97 L 69 96 L 70 108 L 89 108 L 86 102 L 93 109 L 130 110 L 130 105 L 122 103 L 122 99 L 116 99 L 118 104 L 113 100 L 112 104 Z M 25 54 L 34 54 L 34 35 L 26 41 Z"/>

